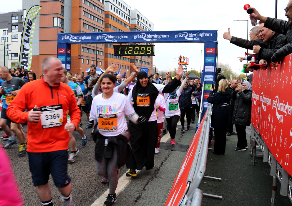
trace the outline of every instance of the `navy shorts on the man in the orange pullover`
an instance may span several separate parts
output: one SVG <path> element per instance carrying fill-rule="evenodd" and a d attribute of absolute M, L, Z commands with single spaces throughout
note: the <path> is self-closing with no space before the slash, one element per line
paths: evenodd
<path fill-rule="evenodd" d="M 67 150 L 41 153 L 27 152 L 27 154 L 34 186 L 47 184 L 50 174 L 52 174 L 57 188 L 66 187 L 71 182 L 67 174 Z"/>

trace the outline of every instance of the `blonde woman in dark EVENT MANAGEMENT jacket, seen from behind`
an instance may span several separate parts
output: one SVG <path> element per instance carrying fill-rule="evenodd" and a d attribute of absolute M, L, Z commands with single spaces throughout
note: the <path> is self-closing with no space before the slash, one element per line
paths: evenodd
<path fill-rule="evenodd" d="M 231 91 L 228 82 L 221 79 L 218 84 L 218 92 L 213 93 L 214 88 L 210 88 L 207 101 L 213 104 L 211 116 L 212 127 L 214 128 L 215 144 L 214 154 L 224 154 L 226 146 L 226 126 L 228 125 L 228 111 L 231 98 Z"/>

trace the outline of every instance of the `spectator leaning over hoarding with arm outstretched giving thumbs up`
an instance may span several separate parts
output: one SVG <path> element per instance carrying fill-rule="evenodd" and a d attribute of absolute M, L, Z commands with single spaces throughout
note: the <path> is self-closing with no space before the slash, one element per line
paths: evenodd
<path fill-rule="evenodd" d="M 248 41 L 248 39 L 241 39 L 238 37 L 231 36 L 229 29 L 230 28 L 228 28 L 228 32 L 224 32 L 223 38 L 229 40 L 230 43 L 238 47 L 242 47 L 249 50 L 253 49 L 253 45 L 260 45 L 263 48 L 267 47 L 266 43 L 263 42 L 263 39 L 261 39 L 261 37 L 259 36 L 260 33 L 258 31 L 258 26 L 250 29 L 250 32 L 249 32 L 250 41 Z"/>

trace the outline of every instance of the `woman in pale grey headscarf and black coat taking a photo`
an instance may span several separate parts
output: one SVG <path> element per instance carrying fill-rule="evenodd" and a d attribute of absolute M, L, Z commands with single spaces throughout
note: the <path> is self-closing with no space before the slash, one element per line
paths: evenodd
<path fill-rule="evenodd" d="M 251 85 L 248 81 L 242 83 L 241 88 L 237 87 L 232 94 L 235 99 L 232 123 L 235 124 L 237 132 L 236 151 L 245 151 L 248 148 L 245 128 L 250 126 L 251 116 Z"/>

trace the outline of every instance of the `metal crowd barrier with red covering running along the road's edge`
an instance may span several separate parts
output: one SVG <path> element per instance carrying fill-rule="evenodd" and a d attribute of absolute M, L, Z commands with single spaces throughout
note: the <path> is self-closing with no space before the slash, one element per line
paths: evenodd
<path fill-rule="evenodd" d="M 201 205 L 203 195 L 222 199 L 221 196 L 206 194 L 198 189 L 203 178 L 221 180 L 216 177 L 204 176 L 208 154 L 211 111 L 212 105 L 210 104 L 190 144 L 185 159 L 182 161 L 180 170 L 174 179 L 170 192 L 165 201 L 165 206 Z M 188 177 L 183 176 L 183 171 L 189 171 Z"/>

